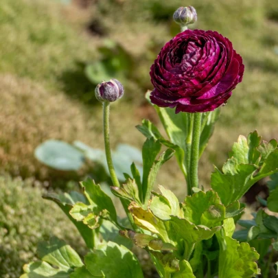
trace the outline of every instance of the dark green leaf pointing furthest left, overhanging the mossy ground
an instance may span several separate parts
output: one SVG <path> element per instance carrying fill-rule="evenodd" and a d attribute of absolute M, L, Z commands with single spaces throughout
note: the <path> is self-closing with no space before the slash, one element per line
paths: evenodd
<path fill-rule="evenodd" d="M 73 224 L 76 226 L 78 231 L 80 232 L 80 235 L 84 239 L 84 242 L 86 242 L 86 246 L 88 248 L 94 248 L 95 246 L 95 231 L 90 229 L 86 224 L 83 222 L 78 222 L 72 216 L 69 214 L 69 211 L 72 209 L 73 205 L 76 204 L 76 202 L 83 202 L 87 203 L 86 198 L 78 193 L 78 192 L 71 192 L 70 194 L 64 193 L 64 194 L 46 194 L 43 196 L 43 198 L 47 200 L 52 200 L 56 202 L 56 204 L 64 211 L 66 216 L 73 222 Z"/>

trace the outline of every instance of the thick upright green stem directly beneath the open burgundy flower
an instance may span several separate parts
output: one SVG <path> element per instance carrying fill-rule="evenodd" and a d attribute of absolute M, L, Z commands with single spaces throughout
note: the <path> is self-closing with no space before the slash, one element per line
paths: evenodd
<path fill-rule="evenodd" d="M 190 195 L 192 195 L 192 187 L 199 187 L 198 162 L 199 162 L 201 123 L 202 123 L 202 114 L 194 113 L 193 130 L 192 130 L 192 148 L 190 154 L 190 167 L 189 167 L 190 185 L 187 189 Z"/>

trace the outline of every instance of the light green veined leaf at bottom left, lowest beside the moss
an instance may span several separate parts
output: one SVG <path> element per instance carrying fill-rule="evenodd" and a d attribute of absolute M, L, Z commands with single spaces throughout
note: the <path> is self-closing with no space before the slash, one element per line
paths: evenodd
<path fill-rule="evenodd" d="M 21 278 L 69 278 L 74 268 L 83 266 L 78 253 L 55 237 L 40 242 L 37 253 L 41 261 L 23 266 L 25 274 Z"/>

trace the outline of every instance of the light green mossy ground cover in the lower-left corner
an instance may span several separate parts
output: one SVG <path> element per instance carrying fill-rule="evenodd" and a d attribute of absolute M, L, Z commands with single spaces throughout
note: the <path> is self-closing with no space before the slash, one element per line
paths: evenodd
<path fill-rule="evenodd" d="M 40 183 L 0 177 L 0 277 L 18 278 L 23 264 L 35 258 L 36 245 L 51 235 L 65 239 L 84 254 L 78 231 L 60 208 L 41 198 Z"/>

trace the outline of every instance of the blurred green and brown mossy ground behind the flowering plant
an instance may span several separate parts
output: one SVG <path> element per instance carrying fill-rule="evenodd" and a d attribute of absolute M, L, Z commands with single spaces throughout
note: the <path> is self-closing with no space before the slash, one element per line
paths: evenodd
<path fill-rule="evenodd" d="M 209 185 L 213 164 L 222 165 L 239 134 L 255 129 L 278 137 L 278 1 L 274 0 L 1 0 L 0 5 L 0 277 L 17 278 L 34 257 L 36 243 L 51 234 L 73 242 L 77 232 L 58 207 L 40 198 L 68 190 L 92 171 L 51 170 L 34 157 L 47 139 L 82 141 L 103 148 L 97 82 L 117 78 L 125 95 L 113 104 L 111 139 L 141 148 L 141 119 L 158 124 L 144 93 L 161 47 L 179 32 L 172 14 L 193 5 L 191 28 L 216 30 L 242 55 L 244 79 L 233 92 L 200 162 Z M 174 159 L 158 183 L 185 195 Z"/>

